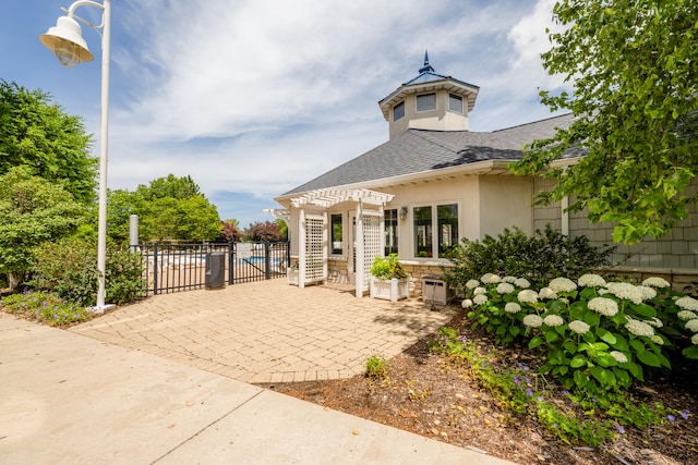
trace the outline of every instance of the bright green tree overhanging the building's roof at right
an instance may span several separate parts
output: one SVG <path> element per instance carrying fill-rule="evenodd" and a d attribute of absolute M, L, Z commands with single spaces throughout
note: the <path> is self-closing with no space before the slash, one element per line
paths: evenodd
<path fill-rule="evenodd" d="M 592 222 L 616 222 L 615 242 L 660 237 L 688 216 L 698 170 L 698 2 L 694 0 L 562 0 L 542 54 L 570 94 L 542 91 L 552 111 L 567 109 L 568 129 L 527 147 L 513 168 L 533 174 L 570 148 L 579 163 L 552 169 L 555 188 L 540 203 L 570 197 Z"/>

